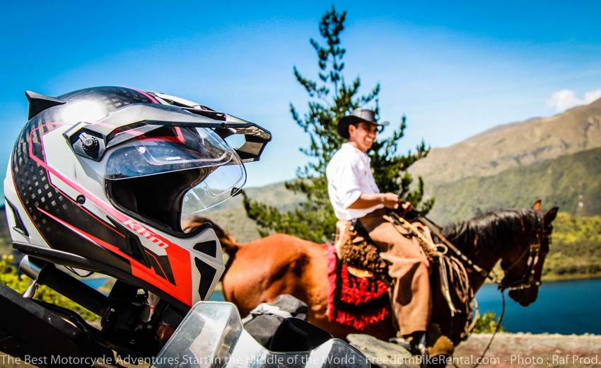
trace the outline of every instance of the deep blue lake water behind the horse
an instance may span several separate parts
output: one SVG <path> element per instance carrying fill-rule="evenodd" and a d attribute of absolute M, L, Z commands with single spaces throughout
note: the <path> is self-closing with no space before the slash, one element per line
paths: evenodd
<path fill-rule="evenodd" d="M 501 294 L 496 285 L 486 284 L 476 295 L 480 313 L 492 311 L 501 315 Z M 503 327 L 509 332 L 562 333 L 601 335 L 601 279 L 544 282 L 538 299 L 523 307 L 507 293 Z M 221 292 L 211 300 L 223 301 Z"/>

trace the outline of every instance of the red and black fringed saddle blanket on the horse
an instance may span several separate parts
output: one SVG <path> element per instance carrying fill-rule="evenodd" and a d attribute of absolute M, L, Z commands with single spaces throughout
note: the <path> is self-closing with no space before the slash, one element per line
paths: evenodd
<path fill-rule="evenodd" d="M 336 256 L 334 244 L 324 244 L 329 293 L 327 317 L 357 330 L 381 322 L 390 313 L 388 287 L 380 280 L 351 275 Z"/>

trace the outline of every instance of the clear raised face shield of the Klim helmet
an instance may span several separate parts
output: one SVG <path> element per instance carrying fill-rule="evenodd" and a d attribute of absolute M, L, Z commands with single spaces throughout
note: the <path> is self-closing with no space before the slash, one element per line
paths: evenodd
<path fill-rule="evenodd" d="M 164 126 L 150 132 L 117 132 L 115 137 L 119 134 L 135 137 L 127 137 L 106 158 L 107 180 L 197 169 L 197 176 L 185 183 L 182 220 L 227 200 L 246 182 L 240 157 L 210 128 Z"/>

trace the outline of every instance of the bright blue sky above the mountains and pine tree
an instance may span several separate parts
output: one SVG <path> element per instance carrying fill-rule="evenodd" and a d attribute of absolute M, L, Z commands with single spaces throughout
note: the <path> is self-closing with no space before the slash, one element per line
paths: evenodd
<path fill-rule="evenodd" d="M 25 90 L 57 96 L 122 85 L 196 100 L 274 134 L 248 185 L 294 177 L 308 137 L 288 113 L 315 77 L 309 38 L 348 11 L 347 79 L 378 81 L 381 116 L 407 114 L 403 149 L 448 146 L 494 125 L 601 96 L 601 2 L 31 1 L 0 14 L 0 174 L 25 123 Z M 297 4 L 298 3 L 298 4 Z"/>

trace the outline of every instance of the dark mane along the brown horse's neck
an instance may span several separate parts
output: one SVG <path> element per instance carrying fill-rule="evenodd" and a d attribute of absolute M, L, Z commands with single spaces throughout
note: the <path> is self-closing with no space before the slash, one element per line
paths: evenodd
<path fill-rule="evenodd" d="M 535 234 L 537 212 L 534 209 L 501 209 L 481 214 L 464 222 L 445 226 L 443 236 L 460 248 L 491 249 L 501 253 L 503 244 L 516 244 L 523 241 L 524 232 Z"/>

